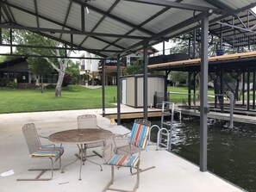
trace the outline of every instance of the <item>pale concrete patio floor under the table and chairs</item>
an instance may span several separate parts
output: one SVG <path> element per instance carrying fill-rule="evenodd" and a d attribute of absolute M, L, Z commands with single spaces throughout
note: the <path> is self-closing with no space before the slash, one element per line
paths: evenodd
<path fill-rule="evenodd" d="M 115 109 L 107 109 L 114 111 Z M 61 130 L 77 127 L 78 115 L 97 115 L 98 125 L 109 129 L 113 133 L 128 133 L 122 126 L 112 126 L 109 119 L 100 114 L 102 109 L 71 110 L 38 113 L 21 113 L 0 115 L 0 173 L 14 170 L 15 174 L 9 177 L 0 177 L 1 192 L 28 192 L 28 191 L 58 191 L 58 192 L 100 192 L 109 182 L 110 167 L 99 166 L 85 162 L 82 170 L 82 181 L 78 181 L 79 162 L 66 167 L 65 173 L 60 170 L 54 172 L 53 180 L 48 182 L 17 182 L 17 178 L 33 178 L 37 172 L 28 172 L 29 168 L 47 167 L 49 161 L 32 159 L 28 155 L 28 147 L 22 135 L 21 127 L 28 122 L 34 122 L 38 133 L 48 136 Z M 47 139 L 41 139 L 43 144 L 49 144 Z M 75 145 L 65 145 L 62 165 L 75 159 L 74 153 L 78 152 Z M 148 147 L 147 152 L 141 153 L 141 168 L 156 166 L 140 174 L 140 188 L 137 192 L 239 192 L 244 191 L 227 183 L 220 177 L 209 172 L 201 172 L 197 165 L 179 158 L 171 152 L 156 151 L 155 146 Z M 97 149 L 101 152 L 101 149 Z M 91 153 L 91 151 L 89 151 Z M 92 157 L 100 164 L 103 160 Z M 47 176 L 48 173 L 45 175 Z M 129 174 L 128 169 L 116 170 L 115 186 L 122 189 L 131 189 L 135 183 L 135 176 Z"/>

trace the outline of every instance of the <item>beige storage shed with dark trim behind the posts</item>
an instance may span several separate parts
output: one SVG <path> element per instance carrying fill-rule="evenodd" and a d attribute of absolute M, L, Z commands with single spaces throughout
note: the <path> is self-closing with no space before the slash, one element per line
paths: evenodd
<path fill-rule="evenodd" d="M 165 92 L 165 77 L 148 74 L 147 106 L 153 106 L 155 92 Z M 122 104 L 143 107 L 143 74 L 122 77 Z"/>

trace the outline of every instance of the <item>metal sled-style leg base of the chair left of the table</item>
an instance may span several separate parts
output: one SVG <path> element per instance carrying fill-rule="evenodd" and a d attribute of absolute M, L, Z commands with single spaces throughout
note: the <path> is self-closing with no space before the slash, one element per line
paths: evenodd
<path fill-rule="evenodd" d="M 41 172 L 33 178 L 22 178 L 22 179 L 16 179 L 16 181 L 49 181 L 51 179 L 53 179 L 53 170 L 59 170 L 60 167 L 61 167 L 61 158 L 56 158 L 56 160 L 54 161 L 54 163 L 59 159 L 59 167 L 58 168 L 53 168 L 53 158 L 50 158 L 51 159 L 51 163 L 52 163 L 52 168 L 51 169 L 29 169 L 28 171 L 36 171 L 36 170 L 41 170 Z M 48 178 L 40 178 L 47 170 L 51 170 L 52 171 L 52 174 L 51 174 L 51 177 L 48 177 Z"/>

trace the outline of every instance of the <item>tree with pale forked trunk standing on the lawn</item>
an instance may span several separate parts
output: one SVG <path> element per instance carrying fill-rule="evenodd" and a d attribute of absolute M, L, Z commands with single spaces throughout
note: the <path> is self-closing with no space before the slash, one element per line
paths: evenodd
<path fill-rule="evenodd" d="M 19 45 L 31 45 L 31 46 L 55 46 L 55 47 L 64 47 L 64 45 L 56 40 L 51 40 L 40 34 L 34 34 L 29 31 L 24 30 L 13 30 L 13 40 L 16 41 Z M 68 50 L 67 53 L 65 50 L 59 49 L 46 49 L 46 48 L 27 48 L 27 47 L 17 47 L 16 53 L 21 54 L 34 54 L 34 55 L 52 55 L 57 56 L 56 58 L 44 58 L 47 60 L 47 63 L 52 65 L 53 69 L 58 71 L 59 77 L 55 88 L 55 96 L 61 96 L 61 85 L 63 83 L 63 78 L 65 76 L 66 68 L 68 65 L 69 59 L 61 59 L 61 56 L 66 55 L 68 58 L 72 53 L 71 50 Z"/>

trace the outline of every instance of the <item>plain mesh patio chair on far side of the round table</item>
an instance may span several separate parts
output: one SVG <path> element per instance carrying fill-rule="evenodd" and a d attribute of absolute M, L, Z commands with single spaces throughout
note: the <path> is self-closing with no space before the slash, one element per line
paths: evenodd
<path fill-rule="evenodd" d="M 96 115 L 78 115 L 77 118 L 78 121 L 78 129 L 79 128 L 101 128 L 97 126 L 97 116 Z M 91 144 L 85 144 L 86 149 L 88 148 L 96 148 L 103 146 L 103 142 L 97 142 L 97 143 L 91 143 Z M 94 152 L 97 156 L 100 158 L 103 158 L 101 154 L 99 154 L 96 151 Z M 95 155 L 86 156 L 87 158 L 90 158 Z"/>

